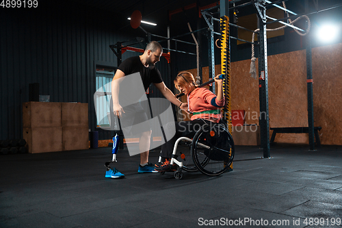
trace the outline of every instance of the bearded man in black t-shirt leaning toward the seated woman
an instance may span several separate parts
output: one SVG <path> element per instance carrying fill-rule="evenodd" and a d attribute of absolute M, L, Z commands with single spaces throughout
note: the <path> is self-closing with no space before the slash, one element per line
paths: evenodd
<path fill-rule="evenodd" d="M 157 87 L 158 90 L 163 94 L 174 105 L 177 105 L 182 110 L 187 110 L 187 103 L 182 103 L 174 96 L 173 92 L 169 90 L 161 79 L 160 72 L 155 68 L 155 64 L 159 62 L 163 48 L 159 42 L 152 41 L 146 46 L 146 49 L 142 55 L 135 56 L 124 60 L 118 67 L 113 80 L 111 81 L 111 93 L 113 97 L 113 110 L 116 116 L 122 115 L 131 116 L 131 118 L 124 118 L 125 125 L 133 126 L 137 123 L 146 123 L 147 116 L 142 106 L 139 103 L 129 105 L 122 108 L 119 102 L 118 91 L 120 90 L 120 80 L 124 76 L 132 75 L 133 73 L 140 73 L 142 84 L 144 84 L 144 90 L 150 86 L 151 83 Z M 138 75 L 138 74 L 136 74 Z M 116 81 L 118 80 L 118 81 Z M 144 128 L 146 129 L 146 128 Z M 150 150 L 150 137 L 151 130 L 144 132 L 135 132 L 140 135 L 139 148 L 140 148 L 140 166 L 138 169 L 139 173 L 157 173 L 155 166 L 148 162 L 148 153 Z"/>

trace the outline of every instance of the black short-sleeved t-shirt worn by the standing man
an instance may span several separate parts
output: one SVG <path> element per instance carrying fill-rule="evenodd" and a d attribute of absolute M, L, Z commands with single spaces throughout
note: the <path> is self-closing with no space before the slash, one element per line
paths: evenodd
<path fill-rule="evenodd" d="M 127 58 L 127 60 L 124 60 L 124 62 L 120 64 L 118 69 L 122 71 L 124 75 L 131 75 L 133 73 L 140 72 L 145 90 L 147 90 L 151 83 L 161 83 L 163 81 L 158 69 L 155 67 L 146 68 L 140 61 L 139 56 Z"/>

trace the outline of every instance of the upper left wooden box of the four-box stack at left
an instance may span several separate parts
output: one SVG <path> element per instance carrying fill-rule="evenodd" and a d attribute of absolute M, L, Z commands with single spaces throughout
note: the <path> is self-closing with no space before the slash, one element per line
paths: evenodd
<path fill-rule="evenodd" d="M 62 127 L 60 102 L 23 103 L 23 127 Z"/>

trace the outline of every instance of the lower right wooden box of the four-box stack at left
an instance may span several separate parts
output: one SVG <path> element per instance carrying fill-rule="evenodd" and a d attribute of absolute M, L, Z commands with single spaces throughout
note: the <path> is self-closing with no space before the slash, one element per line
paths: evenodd
<path fill-rule="evenodd" d="M 87 126 L 66 126 L 63 128 L 63 151 L 89 149 Z"/>

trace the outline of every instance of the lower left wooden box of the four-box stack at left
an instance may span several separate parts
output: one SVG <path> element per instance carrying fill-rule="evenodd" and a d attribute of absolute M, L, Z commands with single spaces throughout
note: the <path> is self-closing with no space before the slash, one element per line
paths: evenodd
<path fill-rule="evenodd" d="M 24 127 L 29 153 L 62 151 L 62 127 Z"/>

